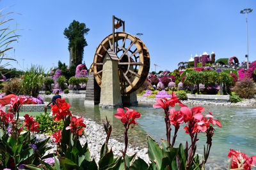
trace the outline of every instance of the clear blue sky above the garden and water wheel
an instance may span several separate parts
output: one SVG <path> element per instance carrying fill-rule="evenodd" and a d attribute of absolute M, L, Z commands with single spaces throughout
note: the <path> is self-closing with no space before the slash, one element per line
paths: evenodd
<path fill-rule="evenodd" d="M 256 60 L 255 0 L 180 0 L 180 1 L 68 1 L 68 0 L 1 0 L 15 19 L 19 43 L 13 44 L 17 69 L 40 64 L 45 69 L 68 64 L 68 39 L 63 31 L 73 21 L 90 28 L 85 36 L 84 61 L 90 67 L 100 41 L 111 34 L 112 15 L 125 20 L 125 31 L 136 35 L 150 53 L 150 71 L 154 63 L 159 70 L 177 69 L 177 64 L 191 54 L 216 53 L 216 59 L 246 54 L 246 20 L 240 11 L 252 8 L 248 15 L 250 61 Z M 121 30 L 120 30 L 121 31 Z M 24 62 L 24 64 L 23 64 Z"/>

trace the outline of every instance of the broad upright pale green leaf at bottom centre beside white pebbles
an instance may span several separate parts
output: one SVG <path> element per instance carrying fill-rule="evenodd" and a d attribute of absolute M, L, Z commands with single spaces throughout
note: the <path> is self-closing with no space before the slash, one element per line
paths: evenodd
<path fill-rule="evenodd" d="M 161 163 L 163 159 L 163 150 L 157 144 L 157 142 L 151 138 L 149 135 L 147 136 L 148 141 L 148 157 L 152 162 L 156 162 L 157 169 L 161 168 Z"/>

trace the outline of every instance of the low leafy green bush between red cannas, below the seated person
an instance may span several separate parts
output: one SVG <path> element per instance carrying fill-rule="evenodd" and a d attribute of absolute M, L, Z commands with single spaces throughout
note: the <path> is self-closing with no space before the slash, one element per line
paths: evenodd
<path fill-rule="evenodd" d="M 41 134 L 49 134 L 58 131 L 63 128 L 63 122 L 55 122 L 54 117 L 50 115 L 50 113 L 41 113 L 39 116 L 36 116 L 36 122 L 39 122 Z"/>

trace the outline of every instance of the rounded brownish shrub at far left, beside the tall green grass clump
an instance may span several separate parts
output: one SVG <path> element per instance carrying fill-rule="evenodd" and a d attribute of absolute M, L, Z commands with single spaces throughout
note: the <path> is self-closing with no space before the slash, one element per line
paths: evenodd
<path fill-rule="evenodd" d="M 24 94 L 22 90 L 22 82 L 19 78 L 13 78 L 10 81 L 6 81 L 4 83 L 4 90 L 3 92 L 8 95 L 8 94 L 15 94 L 15 95 L 21 95 Z"/>

